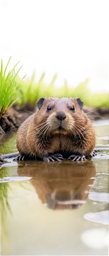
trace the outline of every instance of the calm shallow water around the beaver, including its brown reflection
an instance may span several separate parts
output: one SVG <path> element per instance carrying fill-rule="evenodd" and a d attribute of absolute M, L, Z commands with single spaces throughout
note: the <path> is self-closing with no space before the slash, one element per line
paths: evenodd
<path fill-rule="evenodd" d="M 94 125 L 93 160 L 1 167 L 0 255 L 109 255 L 109 120 Z M 2 138 L 0 154 L 16 152 L 15 137 Z"/>

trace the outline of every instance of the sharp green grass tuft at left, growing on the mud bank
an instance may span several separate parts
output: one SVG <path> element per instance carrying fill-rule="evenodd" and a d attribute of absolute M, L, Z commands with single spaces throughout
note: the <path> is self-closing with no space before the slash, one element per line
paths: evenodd
<path fill-rule="evenodd" d="M 5 116 L 7 110 L 11 107 L 12 96 L 15 91 L 15 79 L 20 73 L 20 70 L 23 68 L 23 65 L 20 65 L 20 60 L 17 61 L 12 69 L 9 70 L 10 63 L 12 61 L 12 56 L 10 56 L 4 65 L 4 59 L 0 58 L 0 115 Z M 20 65 L 20 66 L 19 66 Z M 19 66 L 18 70 L 16 68 Z M 15 101 L 16 101 L 15 96 Z"/>

